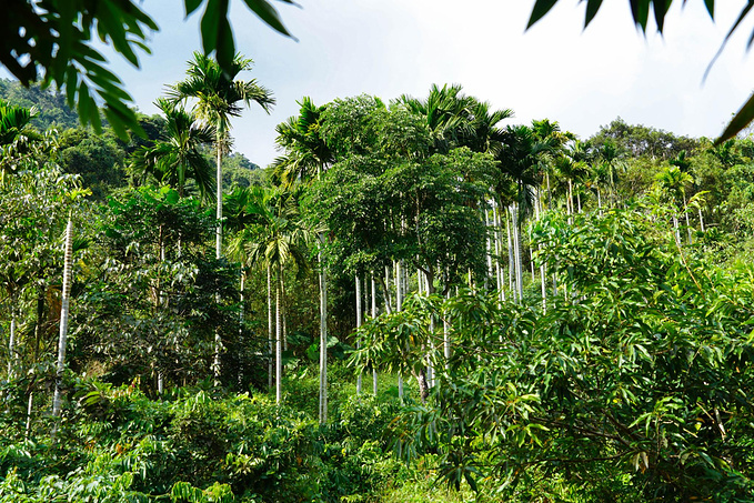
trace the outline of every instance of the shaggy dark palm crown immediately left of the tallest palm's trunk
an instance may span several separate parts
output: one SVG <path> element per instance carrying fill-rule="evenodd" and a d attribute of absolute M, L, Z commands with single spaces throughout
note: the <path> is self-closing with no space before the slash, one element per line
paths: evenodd
<path fill-rule="evenodd" d="M 154 104 L 165 115 L 165 137 L 151 147 L 137 149 L 132 168 L 174 187 L 180 197 L 185 195 L 187 179 L 193 179 L 202 199 L 211 198 L 215 180 L 201 147 L 214 141 L 214 125 L 199 123 L 183 107 L 163 98 Z"/>

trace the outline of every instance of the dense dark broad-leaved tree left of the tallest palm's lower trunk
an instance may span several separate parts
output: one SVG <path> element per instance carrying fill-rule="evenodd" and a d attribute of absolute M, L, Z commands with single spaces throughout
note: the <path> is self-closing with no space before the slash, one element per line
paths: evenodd
<path fill-rule="evenodd" d="M 171 189 L 110 200 L 99 241 L 111 256 L 98 265 L 74 323 L 82 363 L 100 362 L 115 383 L 158 373 L 167 383 L 197 382 L 219 330 L 232 350 L 223 381 L 247 389 L 258 379 L 260 342 L 239 326 L 237 269 L 202 252 L 213 223 Z"/>

